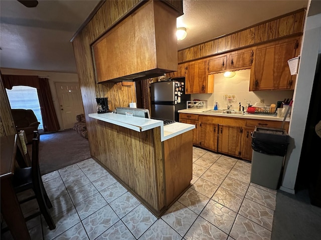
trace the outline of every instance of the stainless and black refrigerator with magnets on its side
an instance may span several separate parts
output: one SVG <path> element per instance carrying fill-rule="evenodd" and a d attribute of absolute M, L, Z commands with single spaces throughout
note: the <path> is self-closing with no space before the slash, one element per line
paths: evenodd
<path fill-rule="evenodd" d="M 190 94 L 185 94 L 185 77 L 150 84 L 151 117 L 179 121 L 178 110 L 187 108 Z"/>

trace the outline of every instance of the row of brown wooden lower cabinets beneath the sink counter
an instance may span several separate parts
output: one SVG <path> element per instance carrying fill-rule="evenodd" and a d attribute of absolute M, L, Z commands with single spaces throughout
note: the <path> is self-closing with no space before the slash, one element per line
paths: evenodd
<path fill-rule="evenodd" d="M 213 115 L 180 113 L 180 121 L 196 124 L 193 144 L 203 148 L 252 160 L 252 132 L 257 127 L 281 128 L 282 121 L 245 119 Z M 289 122 L 284 129 L 288 130 Z M 197 142 L 197 143 L 196 143 Z"/>

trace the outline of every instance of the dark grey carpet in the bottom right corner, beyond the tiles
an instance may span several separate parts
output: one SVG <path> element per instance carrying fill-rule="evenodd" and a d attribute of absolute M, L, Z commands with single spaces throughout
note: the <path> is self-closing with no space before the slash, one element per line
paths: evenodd
<path fill-rule="evenodd" d="M 277 191 L 271 239 L 321 239 L 321 207 L 310 203 L 307 189 Z"/>

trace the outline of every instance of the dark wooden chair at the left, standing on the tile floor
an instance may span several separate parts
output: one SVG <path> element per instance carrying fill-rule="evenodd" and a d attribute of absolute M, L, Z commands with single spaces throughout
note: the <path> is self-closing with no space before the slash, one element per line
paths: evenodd
<path fill-rule="evenodd" d="M 32 160 L 31 167 L 18 168 L 15 170 L 15 174 L 13 177 L 13 185 L 16 193 L 22 192 L 28 189 L 33 189 L 35 195 L 28 197 L 20 203 L 27 202 L 34 198 L 37 199 L 39 204 L 40 211 L 36 212 L 28 217 L 26 217 L 26 221 L 29 219 L 42 214 L 49 226 L 49 229 L 55 229 L 56 225 L 53 221 L 51 214 L 48 208 L 52 207 L 50 199 L 45 190 L 41 174 L 39 168 L 39 132 L 34 131 L 34 138 L 32 140 Z"/>

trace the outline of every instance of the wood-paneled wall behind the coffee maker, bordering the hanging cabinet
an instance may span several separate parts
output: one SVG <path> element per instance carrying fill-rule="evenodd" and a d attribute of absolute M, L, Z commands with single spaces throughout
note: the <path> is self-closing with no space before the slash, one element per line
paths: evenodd
<path fill-rule="evenodd" d="M 86 116 L 88 139 L 92 156 L 99 156 L 100 130 L 88 113 L 97 112 L 96 97 L 108 97 L 109 109 L 129 106 L 136 101 L 135 86 L 121 82 L 96 84 L 91 44 L 125 13 L 137 6 L 141 0 L 108 0 L 98 9 L 88 24 L 73 39 L 73 47 L 79 76 L 79 85 Z"/>

